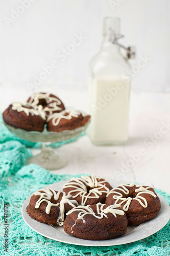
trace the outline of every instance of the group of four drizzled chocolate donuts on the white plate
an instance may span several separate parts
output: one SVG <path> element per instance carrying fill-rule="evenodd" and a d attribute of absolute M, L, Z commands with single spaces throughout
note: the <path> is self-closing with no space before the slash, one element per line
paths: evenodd
<path fill-rule="evenodd" d="M 139 225 L 154 218 L 160 200 L 149 186 L 112 186 L 104 177 L 72 178 L 63 191 L 51 188 L 36 191 L 27 207 L 31 218 L 87 240 L 107 240 L 123 236 L 127 225 Z"/>

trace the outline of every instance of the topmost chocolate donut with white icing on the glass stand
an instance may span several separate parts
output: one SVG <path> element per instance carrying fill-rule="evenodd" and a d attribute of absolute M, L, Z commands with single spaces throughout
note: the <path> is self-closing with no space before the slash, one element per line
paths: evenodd
<path fill-rule="evenodd" d="M 27 100 L 34 107 L 41 106 L 41 109 L 46 115 L 52 115 L 53 113 L 59 113 L 65 110 L 63 102 L 55 95 L 51 93 L 34 93 Z"/>

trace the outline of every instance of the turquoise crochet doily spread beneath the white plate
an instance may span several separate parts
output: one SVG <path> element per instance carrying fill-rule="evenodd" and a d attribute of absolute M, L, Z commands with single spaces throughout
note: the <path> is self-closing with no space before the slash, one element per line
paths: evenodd
<path fill-rule="evenodd" d="M 64 244 L 47 239 L 33 231 L 22 219 L 22 203 L 35 190 L 47 184 L 70 179 L 72 176 L 52 174 L 35 164 L 25 166 L 27 158 L 31 156 L 28 146 L 35 146 L 35 144 L 19 140 L 10 134 L 2 123 L 0 124 L 0 251 L 2 256 L 87 256 L 89 254 L 92 256 L 163 256 L 170 254 L 170 222 L 149 238 L 130 244 L 107 247 Z M 156 191 L 170 204 L 170 195 L 158 189 Z M 8 252 L 4 252 L 4 204 L 8 204 Z"/>

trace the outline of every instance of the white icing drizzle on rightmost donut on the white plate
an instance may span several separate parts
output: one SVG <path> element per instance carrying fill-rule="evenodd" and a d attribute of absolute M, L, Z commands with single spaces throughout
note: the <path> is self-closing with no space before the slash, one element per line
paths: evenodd
<path fill-rule="evenodd" d="M 118 191 L 115 191 L 115 190 L 120 190 L 125 195 L 128 195 L 129 194 L 129 189 L 127 187 L 133 187 L 133 186 L 137 187 L 135 189 L 135 193 L 137 193 L 135 198 L 131 198 L 131 197 L 123 198 L 122 193 L 119 193 Z M 148 202 L 144 197 L 142 197 L 140 195 L 141 194 L 150 194 L 151 196 L 153 196 L 155 198 L 157 197 L 153 191 L 149 190 L 149 188 L 151 188 L 151 187 L 143 187 L 143 185 L 136 185 L 134 183 L 120 184 L 118 187 L 111 189 L 110 192 L 108 193 L 107 197 L 110 194 L 115 194 L 115 195 L 113 195 L 113 199 L 116 200 L 114 204 L 120 204 L 121 205 L 121 204 L 126 202 L 126 204 L 123 207 L 123 210 L 125 210 L 125 211 L 127 211 L 129 209 L 129 206 L 130 206 L 130 203 L 131 203 L 132 200 L 137 200 L 143 208 L 146 208 L 148 206 Z M 121 201 L 121 202 L 119 202 L 119 201 Z"/>

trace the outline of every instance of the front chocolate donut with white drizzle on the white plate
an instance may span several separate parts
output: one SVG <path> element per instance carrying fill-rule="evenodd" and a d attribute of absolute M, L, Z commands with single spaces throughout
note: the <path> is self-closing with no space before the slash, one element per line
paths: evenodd
<path fill-rule="evenodd" d="M 64 231 L 87 240 L 107 240 L 127 231 L 127 217 L 119 205 L 80 205 L 67 212 Z"/>

